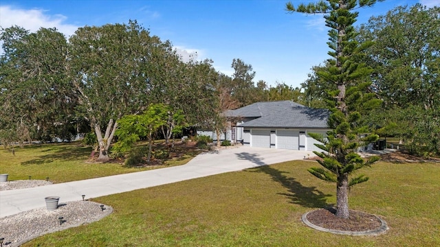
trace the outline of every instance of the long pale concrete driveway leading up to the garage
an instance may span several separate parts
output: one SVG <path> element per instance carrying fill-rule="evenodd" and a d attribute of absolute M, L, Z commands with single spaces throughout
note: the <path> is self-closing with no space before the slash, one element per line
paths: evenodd
<path fill-rule="evenodd" d="M 44 198 L 47 196 L 60 196 L 60 202 L 83 200 L 81 195 L 85 195 L 86 199 L 96 198 L 192 178 L 241 171 L 261 165 L 299 160 L 307 154 L 315 156 L 314 153 L 308 151 L 248 147 L 229 148 L 218 152 L 199 154 L 186 165 L 176 167 L 28 189 L 0 191 L 0 217 L 45 207 Z"/>

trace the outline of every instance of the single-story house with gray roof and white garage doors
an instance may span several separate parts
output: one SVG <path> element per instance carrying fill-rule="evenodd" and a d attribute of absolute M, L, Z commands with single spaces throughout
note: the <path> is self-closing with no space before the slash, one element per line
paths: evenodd
<path fill-rule="evenodd" d="M 225 113 L 232 121 L 231 128 L 221 139 L 258 148 L 321 151 L 308 133 L 325 134 L 329 111 L 313 109 L 285 100 L 258 102 Z M 215 136 L 213 132 L 199 131 L 197 134 Z M 214 139 L 214 138 L 213 138 Z"/>

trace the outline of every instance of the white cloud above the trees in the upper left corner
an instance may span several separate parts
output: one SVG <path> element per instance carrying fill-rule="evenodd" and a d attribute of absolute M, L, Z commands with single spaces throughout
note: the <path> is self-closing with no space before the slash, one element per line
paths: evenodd
<path fill-rule="evenodd" d="M 41 9 L 23 10 L 9 5 L 1 5 L 0 15 L 0 26 L 3 28 L 18 25 L 30 30 L 30 32 L 36 32 L 41 27 L 56 27 L 59 32 L 67 37 L 74 34 L 78 29 L 75 25 L 64 23 L 67 20 L 66 16 L 61 14 L 47 15 L 45 10 Z"/>

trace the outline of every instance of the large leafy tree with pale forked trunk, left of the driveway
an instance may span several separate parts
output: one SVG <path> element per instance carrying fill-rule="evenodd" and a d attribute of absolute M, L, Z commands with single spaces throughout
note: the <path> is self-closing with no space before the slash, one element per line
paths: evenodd
<path fill-rule="evenodd" d="M 172 49 L 135 21 L 81 27 L 69 42 L 70 79 L 78 109 L 98 138 L 98 160 L 105 161 L 117 120 L 142 113 L 148 106 L 159 60 Z"/>

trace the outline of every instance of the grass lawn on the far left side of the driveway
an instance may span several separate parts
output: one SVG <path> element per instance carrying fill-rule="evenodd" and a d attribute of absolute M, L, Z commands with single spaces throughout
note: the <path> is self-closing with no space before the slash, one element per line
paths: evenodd
<path fill-rule="evenodd" d="M 181 165 L 197 155 L 197 152 L 191 152 L 167 161 L 164 165 L 129 168 L 121 163 L 88 163 L 91 148 L 83 147 L 79 142 L 25 145 L 24 148 L 16 147 L 14 150 L 15 153 L 12 154 L 1 146 L 0 174 L 9 174 L 8 180 L 26 180 L 29 176 L 32 179 L 45 180 L 49 177 L 53 183 Z"/>

